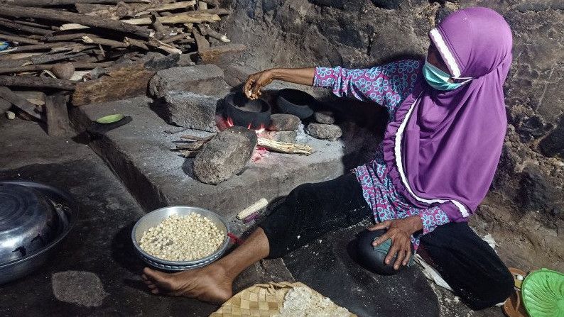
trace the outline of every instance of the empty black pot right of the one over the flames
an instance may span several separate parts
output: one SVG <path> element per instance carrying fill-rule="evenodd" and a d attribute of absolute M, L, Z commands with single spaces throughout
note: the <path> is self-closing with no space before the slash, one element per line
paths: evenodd
<path fill-rule="evenodd" d="M 287 88 L 278 91 L 276 104 L 281 113 L 293 114 L 303 120 L 313 115 L 315 98 L 305 91 Z"/>

